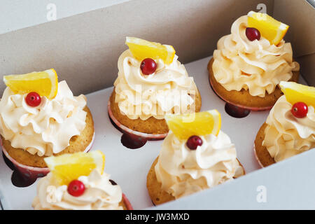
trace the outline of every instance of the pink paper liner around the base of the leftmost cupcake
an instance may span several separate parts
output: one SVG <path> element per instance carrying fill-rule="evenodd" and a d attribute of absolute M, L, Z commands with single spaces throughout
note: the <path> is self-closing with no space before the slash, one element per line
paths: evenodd
<path fill-rule="evenodd" d="M 90 145 L 87 146 L 87 148 L 85 148 L 85 151 L 84 151 L 85 153 L 90 151 L 90 149 L 92 148 L 92 144 L 94 142 L 94 139 L 95 139 L 95 132 L 93 134 L 92 141 L 91 141 Z M 18 172 L 20 172 L 20 174 L 22 174 L 23 176 L 26 176 L 27 179 L 37 179 L 38 177 L 46 176 L 50 172 L 48 167 L 41 168 L 41 167 L 30 167 L 27 165 L 22 165 L 21 163 L 17 162 L 16 160 L 14 160 L 13 158 L 10 157 L 10 155 L 6 151 L 6 148 L 4 148 L 4 146 L 2 144 L 1 138 L 0 138 L 0 145 L 1 145 L 1 148 L 2 148 L 4 155 L 6 155 L 6 158 L 8 158 L 8 160 L 10 160 L 10 162 L 13 163 L 13 165 L 18 170 Z"/>

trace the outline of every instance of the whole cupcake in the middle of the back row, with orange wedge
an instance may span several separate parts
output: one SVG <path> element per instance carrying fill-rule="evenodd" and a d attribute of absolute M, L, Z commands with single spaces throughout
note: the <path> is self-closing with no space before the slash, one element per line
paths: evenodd
<path fill-rule="evenodd" d="M 169 131 L 165 115 L 200 111 L 200 93 L 171 45 L 132 37 L 126 44 L 129 49 L 118 59 L 109 116 L 127 133 L 162 139 Z"/>

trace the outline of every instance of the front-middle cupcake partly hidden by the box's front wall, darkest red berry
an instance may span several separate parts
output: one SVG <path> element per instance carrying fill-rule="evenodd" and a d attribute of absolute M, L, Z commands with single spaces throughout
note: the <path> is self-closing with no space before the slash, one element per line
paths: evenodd
<path fill-rule="evenodd" d="M 195 113 L 192 120 L 185 119 L 167 116 L 169 134 L 147 176 L 148 193 L 155 205 L 245 174 L 235 145 L 220 130 L 218 111 Z"/>

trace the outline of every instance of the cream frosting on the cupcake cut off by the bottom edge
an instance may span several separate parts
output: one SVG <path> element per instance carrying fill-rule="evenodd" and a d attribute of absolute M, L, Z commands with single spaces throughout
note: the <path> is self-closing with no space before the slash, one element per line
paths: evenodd
<path fill-rule="evenodd" d="M 74 197 L 67 186 L 59 186 L 52 173 L 38 181 L 37 195 L 32 207 L 36 210 L 122 210 L 119 203 L 123 193 L 118 185 L 112 185 L 109 174 L 99 174 L 94 169 L 89 176 L 80 176 L 85 186 L 83 195 Z"/>

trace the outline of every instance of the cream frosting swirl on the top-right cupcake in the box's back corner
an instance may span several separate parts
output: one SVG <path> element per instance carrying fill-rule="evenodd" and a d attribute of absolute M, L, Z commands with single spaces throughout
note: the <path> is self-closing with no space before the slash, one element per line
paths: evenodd
<path fill-rule="evenodd" d="M 249 41 L 246 27 L 244 15 L 232 24 L 231 34 L 218 41 L 212 65 L 214 77 L 228 91 L 244 89 L 252 96 L 265 97 L 281 80 L 289 80 L 292 71 L 298 71 L 300 66 L 293 62 L 290 43 L 282 39 L 278 45 L 271 45 L 263 36 L 259 41 Z"/>

